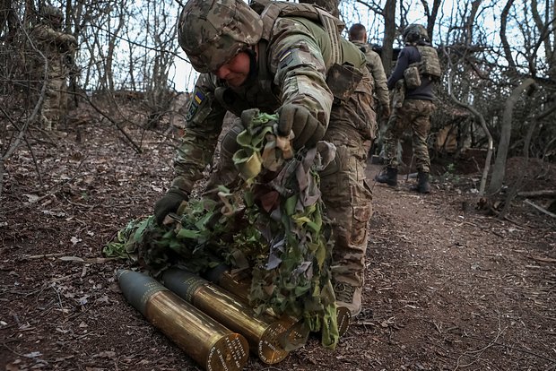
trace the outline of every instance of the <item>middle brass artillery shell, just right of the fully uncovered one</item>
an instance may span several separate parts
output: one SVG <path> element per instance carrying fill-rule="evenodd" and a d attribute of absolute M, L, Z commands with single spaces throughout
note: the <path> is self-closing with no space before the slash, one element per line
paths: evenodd
<path fill-rule="evenodd" d="M 270 315 L 256 315 L 239 298 L 191 272 L 169 269 L 163 272 L 164 285 L 180 298 L 193 304 L 206 315 L 244 335 L 250 349 L 265 364 L 275 364 L 286 358 L 281 338 L 288 331 L 288 322 Z"/>

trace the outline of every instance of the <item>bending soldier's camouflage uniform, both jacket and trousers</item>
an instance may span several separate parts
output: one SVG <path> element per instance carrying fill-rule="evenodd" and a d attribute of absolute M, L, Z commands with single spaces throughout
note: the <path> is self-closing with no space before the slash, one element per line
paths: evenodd
<path fill-rule="evenodd" d="M 343 63 L 359 69 L 362 79 L 347 102 L 335 105 L 326 84 L 328 70 L 334 65 L 327 31 L 320 24 L 301 17 L 279 17 L 266 27 L 270 36 L 265 40 L 266 55 L 259 56 L 259 63 L 266 61 L 265 69 L 273 83 L 271 89 L 260 88 L 254 76 L 244 86 L 233 89 L 234 105 L 274 112 L 282 104 L 299 104 L 326 125 L 326 140 L 337 149 L 333 164 L 321 175 L 326 213 L 334 219 L 334 264 L 337 268 L 334 280 L 361 286 L 372 212 L 371 193 L 364 184 L 364 168 L 370 142 L 377 130 L 372 109 L 372 76 L 365 56 L 348 40 L 340 40 Z M 261 71 L 260 65 L 258 71 Z M 215 91 L 221 87 L 227 86 L 212 73 L 201 74 L 186 109 L 187 127 L 175 159 L 177 176 L 171 186 L 187 194 L 195 181 L 202 178 L 222 129 L 226 108 L 215 96 Z M 226 159 L 221 158 L 222 161 Z M 221 168 L 233 170 L 230 165 Z"/>

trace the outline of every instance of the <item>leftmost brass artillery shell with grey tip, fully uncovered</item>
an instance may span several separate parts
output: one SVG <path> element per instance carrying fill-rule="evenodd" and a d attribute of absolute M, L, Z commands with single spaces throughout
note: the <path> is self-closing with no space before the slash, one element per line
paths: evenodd
<path fill-rule="evenodd" d="M 117 280 L 129 303 L 205 370 L 241 370 L 247 364 L 248 341 L 239 333 L 142 273 L 121 270 Z"/>

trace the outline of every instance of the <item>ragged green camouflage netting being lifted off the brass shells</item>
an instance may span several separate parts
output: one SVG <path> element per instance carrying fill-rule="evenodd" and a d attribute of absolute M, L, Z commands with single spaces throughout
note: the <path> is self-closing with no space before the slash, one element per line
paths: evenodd
<path fill-rule="evenodd" d="M 275 135 L 276 115 L 248 112 L 233 160 L 242 182 L 219 188 L 218 201 L 182 203 L 167 225 L 154 217 L 133 220 L 104 247 L 107 256 L 131 259 L 157 276 L 170 265 L 204 272 L 226 263 L 252 275 L 250 304 L 256 313 L 295 315 L 322 343 L 338 341 L 331 284 L 331 228 L 323 217 L 317 171 L 334 159 L 335 148 L 293 155 L 291 138 Z"/>

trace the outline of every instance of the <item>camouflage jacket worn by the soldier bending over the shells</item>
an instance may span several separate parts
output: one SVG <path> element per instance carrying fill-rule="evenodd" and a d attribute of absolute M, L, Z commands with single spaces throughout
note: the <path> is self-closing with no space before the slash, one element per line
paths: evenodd
<path fill-rule="evenodd" d="M 239 89 L 231 89 L 213 73 L 202 73 L 197 79 L 186 108 L 186 133 L 174 160 L 172 187 L 188 194 L 202 177 L 228 110 L 238 116 L 248 108 L 273 113 L 282 104 L 295 103 L 328 125 L 334 102 L 326 84 L 326 74 L 334 65 L 329 34 L 317 22 L 301 17 L 278 17 L 265 29 L 269 32 L 258 43 L 256 73 Z M 343 63 L 369 74 L 357 47 L 343 38 L 340 46 Z"/>

